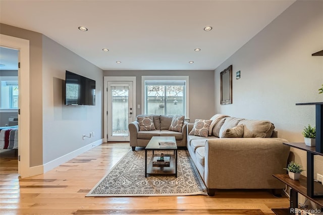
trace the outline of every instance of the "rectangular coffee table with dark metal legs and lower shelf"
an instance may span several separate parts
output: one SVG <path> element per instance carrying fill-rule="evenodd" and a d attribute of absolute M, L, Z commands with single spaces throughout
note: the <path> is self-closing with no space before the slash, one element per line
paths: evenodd
<path fill-rule="evenodd" d="M 159 145 L 159 142 L 175 142 L 175 137 L 163 137 L 163 136 L 154 136 L 150 139 L 147 146 L 145 147 L 145 177 L 147 175 L 175 175 L 177 177 L 177 145 L 176 146 L 167 146 L 163 147 Z M 147 151 L 152 150 L 152 155 L 149 163 L 147 163 Z M 173 154 L 165 154 L 164 157 L 170 157 L 170 166 L 169 167 L 153 167 L 152 160 L 155 156 L 160 156 L 155 154 L 155 151 L 161 150 L 174 150 Z"/>

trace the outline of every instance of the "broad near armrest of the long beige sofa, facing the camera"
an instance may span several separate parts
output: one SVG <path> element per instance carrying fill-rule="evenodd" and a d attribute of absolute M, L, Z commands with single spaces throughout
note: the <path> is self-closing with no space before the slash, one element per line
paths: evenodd
<path fill-rule="evenodd" d="M 219 138 L 205 143 L 204 181 L 210 189 L 276 189 L 284 184 L 290 147 L 282 138 Z M 253 177 L 250 177 L 253 176 Z M 255 177 L 256 176 L 256 177 Z"/>

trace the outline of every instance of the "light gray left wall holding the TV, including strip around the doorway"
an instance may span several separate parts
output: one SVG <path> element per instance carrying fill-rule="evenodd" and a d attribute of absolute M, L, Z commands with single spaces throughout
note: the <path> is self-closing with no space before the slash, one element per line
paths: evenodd
<path fill-rule="evenodd" d="M 31 167 L 103 138 L 102 70 L 41 33 L 1 23 L 0 33 L 30 42 Z M 64 105 L 65 70 L 96 80 L 95 106 Z M 94 137 L 82 140 L 93 131 Z"/>

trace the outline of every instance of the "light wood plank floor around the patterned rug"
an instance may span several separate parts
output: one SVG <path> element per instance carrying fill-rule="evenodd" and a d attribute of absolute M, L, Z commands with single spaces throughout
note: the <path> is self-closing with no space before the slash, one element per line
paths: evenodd
<path fill-rule="evenodd" d="M 273 214 L 286 197 L 226 190 L 215 196 L 85 197 L 130 149 L 103 143 L 43 174 L 18 179 L 14 152 L 0 154 L 0 214 Z"/>

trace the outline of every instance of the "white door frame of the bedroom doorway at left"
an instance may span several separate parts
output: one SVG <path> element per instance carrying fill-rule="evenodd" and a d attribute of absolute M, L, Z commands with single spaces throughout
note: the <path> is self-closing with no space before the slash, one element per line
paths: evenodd
<path fill-rule="evenodd" d="M 30 102 L 29 102 L 29 40 L 0 34 L 0 46 L 19 50 L 18 69 L 19 109 L 18 115 L 18 173 L 21 178 L 36 175 L 30 168 Z M 18 159 L 19 160 L 19 159 Z M 40 173 L 37 173 L 40 174 Z"/>

